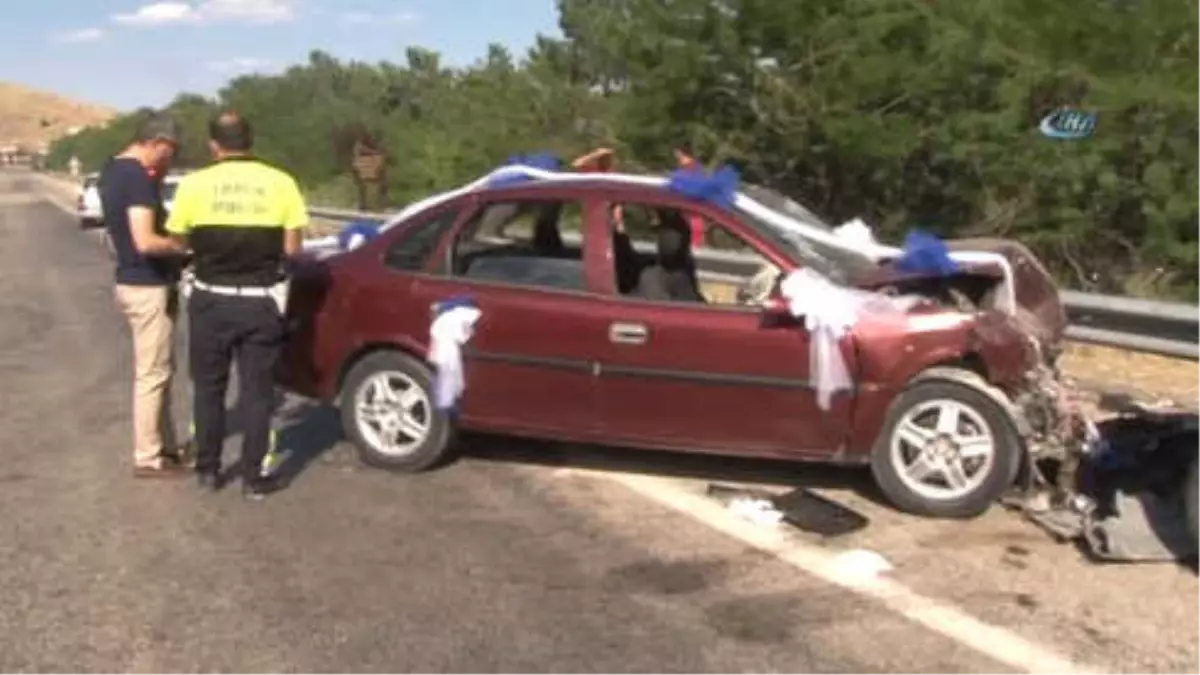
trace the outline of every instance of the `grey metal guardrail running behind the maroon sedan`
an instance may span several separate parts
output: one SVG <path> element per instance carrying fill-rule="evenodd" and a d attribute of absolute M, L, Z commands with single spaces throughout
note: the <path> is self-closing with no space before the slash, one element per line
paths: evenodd
<path fill-rule="evenodd" d="M 323 220 L 382 221 L 383 214 L 361 213 L 348 209 L 314 207 L 310 213 Z M 577 239 L 578 235 L 575 235 Z M 571 240 L 570 234 L 564 239 Z M 646 243 L 635 247 L 649 252 Z M 756 261 L 744 255 L 704 250 L 696 251 L 697 262 L 706 276 L 728 277 L 734 270 Z M 1070 325 L 1067 338 L 1118 350 L 1160 354 L 1172 358 L 1200 360 L 1200 306 L 1186 303 L 1144 300 L 1121 295 L 1103 295 L 1062 291 L 1062 303 L 1067 309 Z"/>

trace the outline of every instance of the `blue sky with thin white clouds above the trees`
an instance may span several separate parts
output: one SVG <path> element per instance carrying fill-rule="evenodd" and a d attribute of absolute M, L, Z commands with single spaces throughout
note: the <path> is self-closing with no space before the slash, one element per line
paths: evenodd
<path fill-rule="evenodd" d="M 0 0 L 0 80 L 128 110 L 313 49 L 403 61 L 408 47 L 467 65 L 497 42 L 523 55 L 558 35 L 554 0 Z"/>

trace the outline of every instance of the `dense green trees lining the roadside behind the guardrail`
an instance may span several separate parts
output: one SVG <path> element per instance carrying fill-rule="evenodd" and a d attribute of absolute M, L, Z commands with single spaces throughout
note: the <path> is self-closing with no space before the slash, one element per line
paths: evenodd
<path fill-rule="evenodd" d="M 446 67 L 313 52 L 168 106 L 181 162 L 206 160 L 204 119 L 233 107 L 262 156 L 314 201 L 352 198 L 347 149 L 390 156 L 397 204 L 514 153 L 604 143 L 662 171 L 690 142 L 838 222 L 896 240 L 914 226 L 1031 245 L 1068 285 L 1200 298 L 1200 5 L 1186 0 L 559 0 L 562 37 L 490 46 Z M 1098 112 L 1092 138 L 1052 141 L 1058 107 Z M 60 141 L 89 168 L 138 112 Z"/>

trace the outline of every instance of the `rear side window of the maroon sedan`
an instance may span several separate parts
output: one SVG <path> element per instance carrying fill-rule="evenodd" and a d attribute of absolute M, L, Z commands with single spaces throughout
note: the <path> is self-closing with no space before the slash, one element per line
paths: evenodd
<path fill-rule="evenodd" d="M 587 289 L 578 202 L 518 199 L 485 204 L 455 239 L 451 274 L 479 281 Z"/>

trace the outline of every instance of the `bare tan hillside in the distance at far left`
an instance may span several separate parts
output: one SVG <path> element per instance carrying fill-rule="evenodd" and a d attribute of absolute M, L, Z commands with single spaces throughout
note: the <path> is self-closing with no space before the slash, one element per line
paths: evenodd
<path fill-rule="evenodd" d="M 0 147 L 37 148 L 72 127 L 103 124 L 118 110 L 0 82 Z"/>

